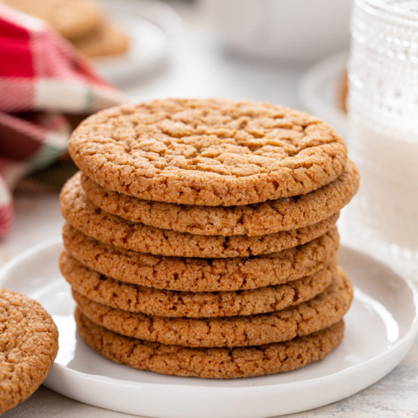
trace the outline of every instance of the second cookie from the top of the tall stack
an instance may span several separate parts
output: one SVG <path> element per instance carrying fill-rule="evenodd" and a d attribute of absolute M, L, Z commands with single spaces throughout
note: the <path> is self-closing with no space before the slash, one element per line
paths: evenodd
<path fill-rule="evenodd" d="M 145 201 L 101 187 L 85 175 L 82 187 L 93 203 L 132 222 L 201 235 L 265 235 L 313 225 L 339 212 L 359 187 L 359 172 L 348 160 L 336 180 L 320 189 L 247 206 L 191 206 Z"/>

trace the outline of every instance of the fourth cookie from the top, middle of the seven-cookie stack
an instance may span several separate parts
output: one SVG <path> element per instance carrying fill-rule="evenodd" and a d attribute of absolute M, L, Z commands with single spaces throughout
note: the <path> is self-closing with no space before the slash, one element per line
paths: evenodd
<path fill-rule="evenodd" d="M 119 281 L 171 291 L 240 291 L 314 274 L 334 258 L 336 226 L 307 244 L 250 258 L 179 258 L 120 249 L 65 224 L 64 246 L 78 261 Z"/>

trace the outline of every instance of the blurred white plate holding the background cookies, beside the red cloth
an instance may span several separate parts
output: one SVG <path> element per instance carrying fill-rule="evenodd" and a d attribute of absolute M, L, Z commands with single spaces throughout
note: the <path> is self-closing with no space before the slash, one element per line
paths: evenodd
<path fill-rule="evenodd" d="M 107 0 L 104 8 L 130 36 L 130 47 L 125 54 L 93 59 L 100 75 L 114 84 L 123 84 L 164 64 L 183 28 L 172 8 L 157 0 Z"/>

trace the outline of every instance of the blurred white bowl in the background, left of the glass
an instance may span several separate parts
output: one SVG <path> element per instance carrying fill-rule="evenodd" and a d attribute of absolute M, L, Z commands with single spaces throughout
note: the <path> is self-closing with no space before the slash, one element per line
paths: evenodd
<path fill-rule="evenodd" d="M 228 49 L 264 59 L 314 61 L 347 47 L 352 0 L 200 0 Z"/>

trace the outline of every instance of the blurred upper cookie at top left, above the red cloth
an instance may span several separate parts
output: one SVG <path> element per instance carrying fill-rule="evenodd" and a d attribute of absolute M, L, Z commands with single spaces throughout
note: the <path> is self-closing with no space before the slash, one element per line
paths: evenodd
<path fill-rule="evenodd" d="M 1 0 L 8 6 L 48 22 L 70 40 L 94 30 L 101 13 L 94 0 Z"/>

